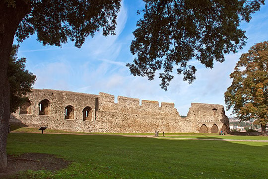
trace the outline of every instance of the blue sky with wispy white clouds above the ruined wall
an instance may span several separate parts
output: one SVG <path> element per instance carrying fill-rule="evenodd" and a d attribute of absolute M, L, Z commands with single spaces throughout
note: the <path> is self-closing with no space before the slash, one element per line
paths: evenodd
<path fill-rule="evenodd" d="M 247 44 L 236 54 L 225 55 L 225 62 L 215 63 L 206 69 L 197 61 L 197 79 L 189 85 L 182 76 L 175 75 L 168 90 L 160 88 L 158 75 L 153 81 L 146 77 L 134 77 L 126 67 L 133 62 L 130 44 L 132 32 L 139 16 L 137 9 L 143 8 L 142 0 L 124 0 L 117 19 L 115 36 L 103 37 L 100 33 L 88 37 L 78 49 L 72 42 L 62 48 L 42 46 L 33 35 L 20 44 L 18 57 L 27 59 L 26 68 L 36 75 L 36 89 L 58 89 L 98 94 L 106 92 L 117 96 L 174 102 L 180 115 L 187 115 L 191 102 L 224 104 L 224 92 L 231 85 L 230 73 L 242 53 L 256 43 L 268 40 L 268 5 L 253 14 L 250 23 L 243 22 Z M 231 111 L 225 111 L 230 116 Z"/>

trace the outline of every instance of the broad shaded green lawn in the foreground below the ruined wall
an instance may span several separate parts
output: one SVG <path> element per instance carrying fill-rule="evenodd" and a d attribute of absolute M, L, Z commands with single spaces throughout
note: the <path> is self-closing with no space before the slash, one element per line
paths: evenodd
<path fill-rule="evenodd" d="M 22 179 L 268 178 L 268 143 L 163 139 L 10 133 L 7 153 L 48 153 L 72 161 L 56 173 L 21 173 Z"/>

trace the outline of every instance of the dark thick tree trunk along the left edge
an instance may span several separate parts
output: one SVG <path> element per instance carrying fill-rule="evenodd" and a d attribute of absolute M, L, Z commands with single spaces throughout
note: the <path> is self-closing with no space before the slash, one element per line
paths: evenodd
<path fill-rule="evenodd" d="M 10 117 L 7 66 L 18 24 L 31 10 L 30 4 L 25 1 L 16 0 L 15 7 L 8 7 L 8 2 L 0 0 L 0 172 L 7 165 L 6 138 Z"/>

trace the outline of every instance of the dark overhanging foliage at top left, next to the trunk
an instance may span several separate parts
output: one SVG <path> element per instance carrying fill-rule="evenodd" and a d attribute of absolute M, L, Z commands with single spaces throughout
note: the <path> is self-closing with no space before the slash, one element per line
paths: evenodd
<path fill-rule="evenodd" d="M 115 34 L 121 0 L 24 0 L 31 12 L 20 22 L 16 36 L 21 42 L 34 33 L 43 45 L 61 46 L 68 39 L 81 47 L 87 36 L 103 29 Z M 12 4 L 12 3 L 9 3 Z"/>

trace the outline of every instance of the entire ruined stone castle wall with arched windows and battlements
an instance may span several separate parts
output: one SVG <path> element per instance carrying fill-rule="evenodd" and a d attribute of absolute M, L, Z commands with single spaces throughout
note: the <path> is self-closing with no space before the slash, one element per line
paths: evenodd
<path fill-rule="evenodd" d="M 218 131 L 229 127 L 223 106 L 217 104 L 192 103 L 182 118 L 174 103 L 162 102 L 159 107 L 158 101 L 141 100 L 139 105 L 139 99 L 124 96 L 115 103 L 115 96 L 103 92 L 33 89 L 27 97 L 28 103 L 11 115 L 11 124 L 111 133 L 214 132 L 215 125 Z"/>

